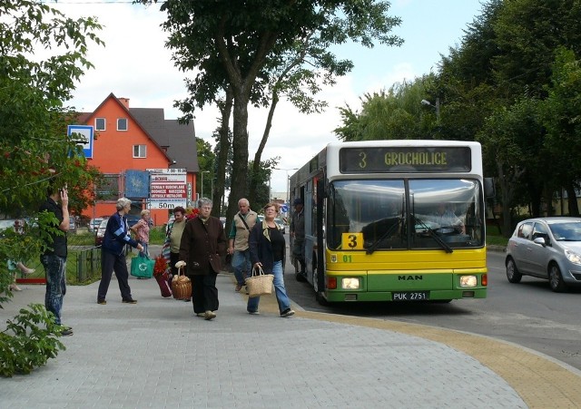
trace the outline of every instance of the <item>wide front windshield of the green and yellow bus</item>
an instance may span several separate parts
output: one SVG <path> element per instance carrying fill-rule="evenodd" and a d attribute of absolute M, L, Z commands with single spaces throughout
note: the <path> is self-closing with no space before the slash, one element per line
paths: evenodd
<path fill-rule="evenodd" d="M 335 180 L 330 183 L 327 246 L 339 250 L 344 233 L 361 233 L 368 253 L 482 247 L 481 203 L 478 180 Z"/>

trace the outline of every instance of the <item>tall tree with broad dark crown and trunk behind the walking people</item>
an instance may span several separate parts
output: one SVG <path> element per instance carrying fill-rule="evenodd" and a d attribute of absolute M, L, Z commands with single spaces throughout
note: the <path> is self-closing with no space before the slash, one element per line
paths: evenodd
<path fill-rule="evenodd" d="M 143 3 L 148 3 L 143 0 Z M 226 87 L 233 95 L 231 198 L 246 195 L 248 174 L 248 105 L 264 101 L 266 84 L 281 55 L 297 42 L 319 33 L 321 50 L 348 40 L 372 46 L 398 44 L 389 36 L 399 19 L 389 18 L 389 3 L 373 0 L 218 0 L 212 3 L 169 0 L 162 5 L 170 33 L 167 45 L 184 71 L 198 68 L 193 100 L 202 106 Z M 332 54 L 325 54 L 330 58 Z"/>

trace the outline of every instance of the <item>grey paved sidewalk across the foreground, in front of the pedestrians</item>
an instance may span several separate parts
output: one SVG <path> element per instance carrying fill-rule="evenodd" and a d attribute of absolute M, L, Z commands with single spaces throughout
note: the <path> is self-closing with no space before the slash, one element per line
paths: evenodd
<path fill-rule="evenodd" d="M 218 316 L 205 321 L 193 315 L 191 303 L 163 299 L 153 279 L 130 284 L 136 305 L 122 304 L 114 278 L 106 306 L 96 304 L 98 283 L 68 287 L 63 321 L 74 327 L 74 336 L 61 338 L 67 349 L 31 375 L 0 379 L 0 407 L 525 408 L 543 403 L 527 393 L 524 400 L 497 374 L 501 371 L 461 352 L 462 346 L 428 339 L 438 336 L 438 328 L 306 311 L 281 318 L 274 297 L 262 297 L 261 315 L 251 316 L 229 274 L 218 276 Z M 0 310 L 1 328 L 19 307 L 44 303 L 44 286 L 22 287 Z M 419 336 L 406 334 L 403 326 Z M 463 336 L 446 334 L 456 341 Z M 556 367 L 551 375 L 563 370 L 577 377 L 578 385 L 578 374 Z M 567 394 L 568 401 L 550 402 L 557 407 L 575 404 L 576 398 Z"/>

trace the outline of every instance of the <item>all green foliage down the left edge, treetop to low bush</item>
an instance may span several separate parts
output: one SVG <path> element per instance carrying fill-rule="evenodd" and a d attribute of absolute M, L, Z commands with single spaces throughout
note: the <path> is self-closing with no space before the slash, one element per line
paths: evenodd
<path fill-rule="evenodd" d="M 97 172 L 79 155 L 74 136 L 66 137 L 66 124 L 71 122 L 63 102 L 71 98 L 84 69 L 93 66 L 85 54 L 89 42 L 102 44 L 94 34 L 99 29 L 93 18 L 66 18 L 38 1 L 0 2 L 0 212 L 4 215 L 32 214 L 51 184 L 68 184 L 78 207 L 87 200 L 84 190 Z M 39 59 L 34 53 L 39 48 L 53 54 Z M 39 215 L 41 226 L 49 221 Z M 5 260 L 18 256 L 18 248 L 42 246 L 40 236 L 33 233 L 5 235 L 8 239 L 0 240 L 0 303 L 12 297 L 8 291 L 12 272 Z M 52 313 L 38 305 L 22 311 L 0 333 L 1 375 L 28 373 L 64 348 L 54 339 Z M 39 324 L 47 328 L 40 329 Z"/>

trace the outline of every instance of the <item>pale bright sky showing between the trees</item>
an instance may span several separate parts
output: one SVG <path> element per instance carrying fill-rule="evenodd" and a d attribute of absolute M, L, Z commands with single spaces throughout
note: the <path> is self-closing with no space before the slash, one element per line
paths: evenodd
<path fill-rule="evenodd" d="M 376 45 L 367 49 L 359 44 L 337 47 L 340 58 L 350 58 L 355 67 L 338 83 L 323 89 L 319 98 L 329 107 L 320 114 L 302 114 L 289 102 L 280 102 L 274 113 L 271 134 L 262 160 L 281 157 L 279 170 L 271 175 L 271 191 L 285 192 L 287 177 L 332 141 L 333 130 L 341 125 L 339 107 L 360 107 L 366 93 L 388 90 L 394 83 L 412 81 L 437 72 L 441 54 L 461 42 L 463 30 L 481 13 L 481 0 L 392 0 L 389 15 L 402 23 L 392 34 L 403 38 L 400 47 Z M 91 44 L 89 60 L 94 69 L 77 84 L 74 98 L 67 105 L 81 112 L 93 112 L 110 94 L 129 98 L 132 108 L 163 108 L 165 119 L 182 113 L 173 102 L 187 96 L 182 73 L 172 63 L 172 52 L 165 48 L 167 34 L 160 24 L 165 14 L 159 5 L 132 5 L 131 1 L 58 0 L 49 3 L 69 17 L 95 16 L 103 25 L 98 36 L 105 47 Z M 188 74 L 193 78 L 194 74 Z M 266 122 L 266 109 L 249 109 L 249 159 L 254 157 Z M 218 110 L 204 107 L 194 119 L 196 137 L 212 144 Z"/>

